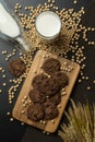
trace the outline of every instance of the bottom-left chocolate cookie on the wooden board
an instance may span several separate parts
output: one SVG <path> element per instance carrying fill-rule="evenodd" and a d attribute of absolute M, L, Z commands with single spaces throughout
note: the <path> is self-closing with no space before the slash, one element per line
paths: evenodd
<path fill-rule="evenodd" d="M 43 106 L 39 104 L 33 104 L 27 108 L 27 118 L 34 121 L 38 121 L 44 117 Z"/>

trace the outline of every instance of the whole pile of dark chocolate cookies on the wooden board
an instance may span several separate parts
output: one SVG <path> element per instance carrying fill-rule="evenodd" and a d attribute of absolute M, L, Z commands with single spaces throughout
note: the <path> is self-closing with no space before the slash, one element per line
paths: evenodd
<path fill-rule="evenodd" d="M 61 102 L 61 90 L 69 84 L 68 75 L 60 68 L 59 60 L 48 58 L 41 67 L 44 73 L 34 76 L 33 88 L 28 93 L 32 100 L 27 108 L 29 120 L 51 120 L 58 117 L 57 105 Z"/>

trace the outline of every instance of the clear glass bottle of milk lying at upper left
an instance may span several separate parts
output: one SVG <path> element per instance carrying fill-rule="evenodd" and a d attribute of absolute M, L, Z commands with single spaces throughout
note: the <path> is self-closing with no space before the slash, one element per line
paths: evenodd
<path fill-rule="evenodd" d="M 25 51 L 29 50 L 29 46 L 23 37 L 19 17 L 3 0 L 0 0 L 0 37 L 12 42 L 16 47 Z"/>

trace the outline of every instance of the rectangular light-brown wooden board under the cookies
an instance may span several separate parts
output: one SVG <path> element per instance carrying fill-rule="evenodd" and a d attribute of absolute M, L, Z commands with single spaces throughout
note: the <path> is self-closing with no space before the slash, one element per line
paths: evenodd
<path fill-rule="evenodd" d="M 28 97 L 28 92 L 32 88 L 32 80 L 36 74 L 39 74 L 41 72 L 40 67 L 44 63 L 45 59 L 50 58 L 50 57 L 56 58 L 60 61 L 62 70 L 64 70 L 69 76 L 69 85 L 66 86 L 67 94 L 61 97 L 61 103 L 60 105 L 57 106 L 59 109 L 59 116 L 57 118 L 55 118 L 54 120 L 47 121 L 47 123 L 45 123 L 45 121 L 38 121 L 38 122 L 32 121 L 27 119 L 26 117 L 26 109 L 31 103 L 29 97 Z M 80 66 L 78 63 L 72 62 L 64 58 L 57 57 L 56 55 L 52 55 L 44 50 L 37 51 L 35 59 L 32 63 L 31 70 L 27 74 L 27 78 L 22 86 L 22 90 L 15 103 L 15 106 L 13 108 L 13 111 L 12 111 L 13 117 L 20 121 L 23 121 L 27 125 L 34 126 L 41 130 L 45 130 L 48 132 L 55 132 L 60 123 L 62 114 L 70 98 L 70 95 L 75 84 L 79 72 L 80 72 Z"/>

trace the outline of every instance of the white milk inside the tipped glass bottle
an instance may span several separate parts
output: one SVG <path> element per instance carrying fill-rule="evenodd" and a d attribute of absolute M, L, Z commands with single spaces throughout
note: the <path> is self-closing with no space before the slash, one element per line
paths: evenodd
<path fill-rule="evenodd" d="M 16 37 L 20 35 L 20 27 L 16 21 L 5 11 L 0 3 L 0 32 L 10 36 Z"/>

